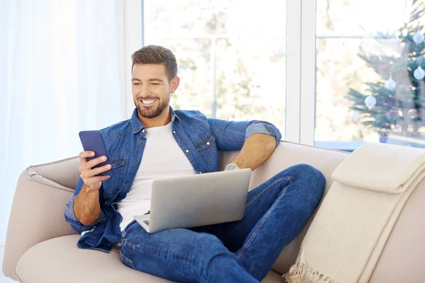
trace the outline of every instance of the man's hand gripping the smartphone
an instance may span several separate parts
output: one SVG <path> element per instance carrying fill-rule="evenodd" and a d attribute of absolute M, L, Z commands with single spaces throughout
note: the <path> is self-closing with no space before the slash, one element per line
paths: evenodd
<path fill-rule="evenodd" d="M 79 154 L 80 158 L 80 166 L 79 173 L 80 177 L 84 182 L 86 190 L 94 191 L 99 190 L 102 185 L 103 180 L 108 180 L 111 176 L 97 176 L 100 173 L 106 172 L 111 169 L 110 164 L 106 164 L 105 166 L 101 166 L 98 168 L 93 168 L 94 166 L 105 162 L 106 156 L 99 156 L 98 158 L 91 159 L 91 161 L 87 161 L 87 157 L 94 156 L 94 151 L 82 151 Z"/>

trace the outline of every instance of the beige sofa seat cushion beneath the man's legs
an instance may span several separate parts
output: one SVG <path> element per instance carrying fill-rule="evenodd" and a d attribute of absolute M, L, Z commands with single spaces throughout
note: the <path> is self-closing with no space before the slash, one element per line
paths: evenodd
<path fill-rule="evenodd" d="M 16 277 L 23 283 L 171 282 L 126 267 L 117 247 L 111 253 L 81 250 L 78 239 L 79 235 L 62 236 L 33 246 L 19 260 Z M 263 282 L 284 281 L 271 271 Z"/>

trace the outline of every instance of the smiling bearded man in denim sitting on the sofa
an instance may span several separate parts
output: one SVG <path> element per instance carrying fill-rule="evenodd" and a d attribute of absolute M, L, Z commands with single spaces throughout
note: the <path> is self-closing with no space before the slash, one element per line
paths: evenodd
<path fill-rule="evenodd" d="M 305 226 L 325 178 L 312 166 L 293 166 L 249 192 L 241 221 L 147 233 L 132 216 L 149 211 L 153 179 L 218 171 L 218 151 L 241 150 L 227 170 L 255 170 L 281 137 L 268 122 L 172 110 L 170 93 L 179 82 L 170 50 L 147 46 L 132 55 L 136 109 L 130 120 L 101 130 L 113 177 L 96 176 L 108 165 L 92 169 L 105 156 L 87 162 L 94 153 L 81 152 L 81 178 L 65 219 L 81 233 L 79 248 L 109 252 L 120 245 L 121 260 L 135 270 L 177 282 L 259 282 Z"/>

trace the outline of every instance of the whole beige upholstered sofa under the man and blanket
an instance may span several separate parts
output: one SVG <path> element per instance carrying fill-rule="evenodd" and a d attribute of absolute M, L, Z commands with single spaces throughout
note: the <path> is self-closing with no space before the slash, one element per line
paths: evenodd
<path fill-rule="evenodd" d="M 236 154 L 222 154 L 222 164 Z M 288 166 L 308 163 L 326 176 L 326 193 L 332 171 L 347 156 L 340 151 L 281 142 L 270 160 L 253 172 L 251 188 Z M 169 282 L 125 267 L 118 248 L 109 254 L 77 248 L 79 235 L 64 221 L 63 212 L 77 184 L 78 165 L 77 158 L 69 158 L 23 171 L 8 226 L 4 274 L 24 283 Z M 425 282 L 424 204 L 422 181 L 399 216 L 370 282 Z M 295 261 L 308 226 L 285 247 L 263 282 L 283 282 L 281 275 Z"/>

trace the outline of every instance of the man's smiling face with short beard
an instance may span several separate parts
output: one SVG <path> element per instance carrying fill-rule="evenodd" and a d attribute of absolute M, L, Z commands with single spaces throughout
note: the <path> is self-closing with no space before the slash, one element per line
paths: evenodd
<path fill-rule="evenodd" d="M 170 93 L 179 86 L 179 77 L 169 81 L 163 64 L 135 64 L 132 69 L 132 96 L 139 115 L 155 118 L 169 108 Z"/>

